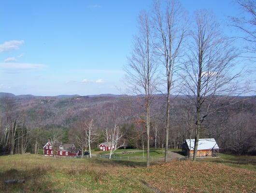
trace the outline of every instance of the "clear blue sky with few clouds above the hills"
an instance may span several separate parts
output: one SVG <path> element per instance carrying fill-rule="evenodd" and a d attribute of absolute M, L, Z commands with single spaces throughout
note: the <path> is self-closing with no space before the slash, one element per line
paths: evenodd
<path fill-rule="evenodd" d="M 223 26 L 240 13 L 232 0 L 181 3 L 191 15 L 213 11 Z M 138 15 L 151 6 L 151 0 L 1 1 L 0 92 L 121 94 Z"/>

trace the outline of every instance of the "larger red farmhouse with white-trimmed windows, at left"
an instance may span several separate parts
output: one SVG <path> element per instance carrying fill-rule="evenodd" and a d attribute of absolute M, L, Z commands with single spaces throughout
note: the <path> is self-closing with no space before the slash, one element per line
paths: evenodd
<path fill-rule="evenodd" d="M 81 150 L 75 148 L 73 143 L 70 144 L 56 144 L 57 148 L 55 151 L 55 155 L 57 156 L 77 156 L 82 155 Z M 45 146 L 43 146 L 43 154 L 48 156 L 54 155 L 54 148 L 50 142 L 47 142 Z"/>

